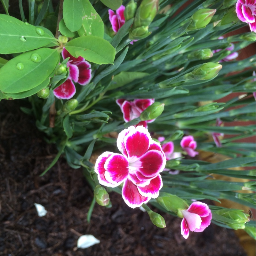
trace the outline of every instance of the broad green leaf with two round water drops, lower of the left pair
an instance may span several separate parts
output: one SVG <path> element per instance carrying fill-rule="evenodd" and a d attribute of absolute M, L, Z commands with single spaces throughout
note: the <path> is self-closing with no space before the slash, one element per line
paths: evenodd
<path fill-rule="evenodd" d="M 59 60 L 60 54 L 50 48 L 40 48 L 18 55 L 0 69 L 0 91 L 20 93 L 35 88 L 50 76 Z"/>

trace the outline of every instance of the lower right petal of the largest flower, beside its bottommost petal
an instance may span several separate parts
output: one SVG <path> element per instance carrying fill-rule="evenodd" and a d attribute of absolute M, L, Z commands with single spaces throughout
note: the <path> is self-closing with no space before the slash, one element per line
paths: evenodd
<path fill-rule="evenodd" d="M 139 187 L 138 190 L 142 196 L 148 196 L 151 198 L 157 198 L 159 191 L 163 187 L 162 177 L 158 174 L 156 178 L 150 181 L 150 184 L 145 187 Z"/>

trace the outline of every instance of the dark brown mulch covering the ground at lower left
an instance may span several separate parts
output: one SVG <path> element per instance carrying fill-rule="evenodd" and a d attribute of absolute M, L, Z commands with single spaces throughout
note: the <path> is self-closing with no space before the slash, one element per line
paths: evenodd
<path fill-rule="evenodd" d="M 0 255 L 246 256 L 230 229 L 210 225 L 185 240 L 181 219 L 162 214 L 166 228 L 157 228 L 147 213 L 129 208 L 115 193 L 110 194 L 113 207 L 96 205 L 89 224 L 93 193 L 81 170 L 61 158 L 39 177 L 56 149 L 44 142 L 17 102 L 0 102 Z M 44 205 L 47 215 L 38 217 L 34 203 Z M 100 244 L 76 249 L 84 234 Z"/>

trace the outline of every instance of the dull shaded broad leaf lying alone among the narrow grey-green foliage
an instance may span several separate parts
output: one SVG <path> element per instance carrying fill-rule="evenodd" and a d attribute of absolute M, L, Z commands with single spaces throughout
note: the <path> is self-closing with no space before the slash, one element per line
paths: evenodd
<path fill-rule="evenodd" d="M 109 86 L 108 90 L 116 89 L 118 87 L 121 87 L 125 84 L 128 84 L 132 82 L 135 79 L 142 78 L 144 76 L 148 76 L 148 73 L 144 72 L 125 72 L 122 71 L 116 76 L 114 76 L 114 79 L 112 81 L 112 84 Z"/>

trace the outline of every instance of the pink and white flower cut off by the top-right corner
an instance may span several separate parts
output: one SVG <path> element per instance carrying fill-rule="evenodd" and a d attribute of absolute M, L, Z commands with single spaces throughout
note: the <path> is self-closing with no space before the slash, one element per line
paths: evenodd
<path fill-rule="evenodd" d="M 255 0 L 238 0 L 236 2 L 236 14 L 239 20 L 249 24 L 251 31 L 256 32 Z"/>

